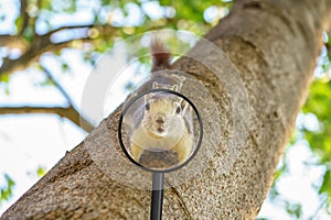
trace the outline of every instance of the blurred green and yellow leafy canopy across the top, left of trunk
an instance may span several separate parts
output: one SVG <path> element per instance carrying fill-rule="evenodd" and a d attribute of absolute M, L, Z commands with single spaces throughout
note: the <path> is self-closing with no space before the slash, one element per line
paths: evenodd
<path fill-rule="evenodd" d="M 70 64 L 61 59 L 64 48 L 79 50 L 85 62 L 94 65 L 99 55 L 113 46 L 116 38 L 154 29 L 185 30 L 202 35 L 226 15 L 232 4 L 231 1 L 216 0 L 29 0 L 21 1 L 22 6 L 19 1 L 17 3 L 20 13 L 12 19 L 12 28 L 7 33 L 18 38 L 13 48 L 3 47 L 7 52 L 0 56 L 0 65 L 1 59 L 9 65 L 0 66 L 0 76 L 7 75 L 4 72 L 13 72 L 17 64 L 24 64 L 23 68 L 29 67 L 31 62 L 45 52 L 60 58 L 63 70 L 71 70 Z M 0 4 L 0 9 L 4 8 L 3 3 Z M 86 19 L 77 20 L 79 13 L 86 14 Z M 10 18 L 8 13 L 2 15 L 3 21 Z M 72 23 L 67 23 L 67 20 L 72 20 Z M 42 42 L 47 42 L 46 50 L 39 46 Z M 18 55 L 12 55 L 11 52 Z M 24 55 L 30 58 L 26 61 Z M 7 78 L 3 76 L 0 84 Z"/>

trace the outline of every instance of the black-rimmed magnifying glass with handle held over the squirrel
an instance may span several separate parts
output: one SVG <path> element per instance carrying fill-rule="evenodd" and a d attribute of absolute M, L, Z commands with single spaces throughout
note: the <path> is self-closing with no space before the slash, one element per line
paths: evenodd
<path fill-rule="evenodd" d="M 201 147 L 203 123 L 196 107 L 171 89 L 145 91 L 125 105 L 118 139 L 129 161 L 152 173 L 150 219 L 161 220 L 164 174 L 185 166 Z"/>

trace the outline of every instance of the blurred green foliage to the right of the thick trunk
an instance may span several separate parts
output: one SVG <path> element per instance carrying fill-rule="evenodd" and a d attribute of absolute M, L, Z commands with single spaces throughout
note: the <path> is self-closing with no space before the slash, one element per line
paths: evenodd
<path fill-rule="evenodd" d="M 307 162 L 307 166 L 322 166 L 324 168 L 324 173 L 320 177 L 320 184 L 316 186 L 321 197 L 319 209 L 327 208 L 327 211 L 331 215 L 331 62 L 330 48 L 328 48 L 331 46 L 331 41 L 327 34 L 324 34 L 324 37 L 325 47 L 322 48 L 318 61 L 316 79 L 310 87 L 309 96 L 301 110 L 301 114 L 310 120 L 297 124 L 295 135 L 287 150 L 295 147 L 296 143 L 300 141 L 306 140 L 308 142 L 309 147 L 317 156 L 317 162 Z M 318 123 L 313 123 L 316 120 Z M 285 153 L 276 170 L 275 180 L 268 197 L 270 200 L 281 201 L 281 206 L 285 207 L 288 215 L 298 219 L 302 215 L 300 204 L 282 198 L 276 187 L 279 178 L 287 175 L 287 170 L 288 162 L 287 153 Z M 311 217 L 311 219 L 314 219 L 314 217 Z"/>

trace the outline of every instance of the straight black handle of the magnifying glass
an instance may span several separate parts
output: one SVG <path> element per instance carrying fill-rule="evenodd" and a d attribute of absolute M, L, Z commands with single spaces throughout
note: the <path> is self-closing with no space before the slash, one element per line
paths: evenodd
<path fill-rule="evenodd" d="M 152 175 L 150 220 L 162 219 L 163 177 L 164 177 L 163 173 L 153 173 Z"/>

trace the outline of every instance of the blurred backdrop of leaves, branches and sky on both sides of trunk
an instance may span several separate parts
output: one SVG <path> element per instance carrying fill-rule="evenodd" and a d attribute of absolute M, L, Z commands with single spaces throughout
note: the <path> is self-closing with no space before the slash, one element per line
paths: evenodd
<path fill-rule="evenodd" d="M 81 112 L 82 92 L 95 63 L 115 42 L 158 29 L 203 35 L 231 7 L 228 0 L 1 0 L 0 215 L 98 123 Z M 323 42 L 316 79 L 258 219 L 331 218 L 327 32 Z M 136 68 L 148 72 L 150 61 Z M 132 86 L 128 80 L 122 92 Z"/>

